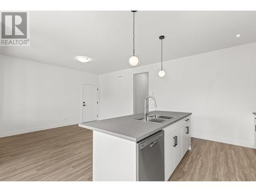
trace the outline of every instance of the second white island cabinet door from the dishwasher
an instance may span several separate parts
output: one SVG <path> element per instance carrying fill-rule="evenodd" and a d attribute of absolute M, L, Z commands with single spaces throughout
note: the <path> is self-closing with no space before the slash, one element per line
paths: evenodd
<path fill-rule="evenodd" d="M 174 133 L 176 138 L 176 146 L 174 147 L 174 167 L 176 168 L 182 159 L 182 131 L 181 128 Z"/>

